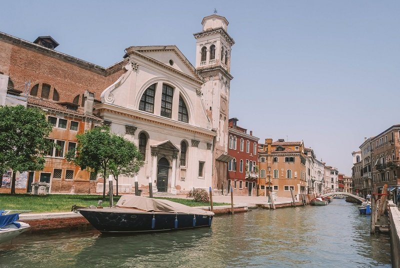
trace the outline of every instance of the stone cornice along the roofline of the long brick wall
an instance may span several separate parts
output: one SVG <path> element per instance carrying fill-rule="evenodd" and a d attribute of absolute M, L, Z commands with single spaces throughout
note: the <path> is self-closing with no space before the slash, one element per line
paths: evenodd
<path fill-rule="evenodd" d="M 81 68 L 84 68 L 84 69 L 87 69 L 87 70 L 90 70 L 90 71 L 94 71 L 94 72 L 96 72 L 98 74 L 102 74 L 104 76 L 107 76 L 107 75 L 109 75 L 111 73 L 114 73 L 115 71 L 118 71 L 119 70 L 118 67 L 122 66 L 124 64 L 124 62 L 127 61 L 126 59 L 122 59 L 122 60 L 116 62 L 115 64 L 113 64 L 113 65 L 111 65 L 111 66 L 109 66 L 107 68 L 104 68 L 104 67 L 99 66 L 97 64 L 90 63 L 88 61 L 85 61 L 85 60 L 79 59 L 77 57 L 73 57 L 73 56 L 64 54 L 64 53 L 56 51 L 54 49 L 50 49 L 50 48 L 41 46 L 39 44 L 26 41 L 24 39 L 12 36 L 12 35 L 7 34 L 5 32 L 0 32 L 0 40 L 6 40 L 6 41 L 11 42 L 13 44 L 20 45 L 20 46 L 22 46 L 24 48 L 27 48 L 27 49 L 30 49 L 30 50 L 35 50 L 35 51 L 41 52 L 41 53 L 43 53 L 45 55 L 48 55 L 48 56 L 51 56 L 51 57 L 56 57 L 56 58 L 59 58 L 60 60 L 67 61 L 69 63 L 74 63 L 74 64 L 78 65 Z"/>

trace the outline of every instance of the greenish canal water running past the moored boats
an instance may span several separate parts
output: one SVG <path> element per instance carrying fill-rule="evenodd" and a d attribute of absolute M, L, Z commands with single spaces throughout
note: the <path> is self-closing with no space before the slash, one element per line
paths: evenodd
<path fill-rule="evenodd" d="M 131 236 L 95 230 L 22 234 L 0 245 L 0 267 L 391 267 L 387 235 L 334 199 L 327 206 L 216 216 L 211 228 Z"/>

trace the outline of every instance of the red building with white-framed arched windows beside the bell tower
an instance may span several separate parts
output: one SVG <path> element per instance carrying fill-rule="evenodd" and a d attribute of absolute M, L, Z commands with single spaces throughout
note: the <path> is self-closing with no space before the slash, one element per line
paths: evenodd
<path fill-rule="evenodd" d="M 228 192 L 233 187 L 234 195 L 255 196 L 258 178 L 257 148 L 258 139 L 247 134 L 247 129 L 237 125 L 238 119 L 229 119 L 228 154 L 233 158 L 228 163 Z"/>

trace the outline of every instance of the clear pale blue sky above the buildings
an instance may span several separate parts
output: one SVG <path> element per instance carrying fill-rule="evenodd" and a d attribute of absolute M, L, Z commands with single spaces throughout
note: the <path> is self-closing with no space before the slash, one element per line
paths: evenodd
<path fill-rule="evenodd" d="M 260 138 L 303 140 L 351 175 L 364 137 L 400 123 L 398 0 L 3 1 L 0 31 L 110 66 L 131 45 L 175 44 L 195 65 L 201 20 L 224 16 L 229 118 Z"/>

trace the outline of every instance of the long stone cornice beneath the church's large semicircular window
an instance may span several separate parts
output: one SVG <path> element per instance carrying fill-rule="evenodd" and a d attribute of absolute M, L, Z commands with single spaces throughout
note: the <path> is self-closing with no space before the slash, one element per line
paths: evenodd
<path fill-rule="evenodd" d="M 216 133 L 211 130 L 200 128 L 200 127 L 193 126 L 190 124 L 181 123 L 181 122 L 167 119 L 167 118 L 164 118 L 161 116 L 147 114 L 147 113 L 144 113 L 141 111 L 127 109 L 127 108 L 112 105 L 109 103 L 100 103 L 100 104 L 94 105 L 94 108 L 96 111 L 99 111 L 99 112 L 109 112 L 109 113 L 124 116 L 127 118 L 138 119 L 141 121 L 146 121 L 146 122 L 150 122 L 153 124 L 162 125 L 162 126 L 166 126 L 166 127 L 170 127 L 170 128 L 194 133 L 194 134 L 200 134 L 200 135 L 203 135 L 206 137 L 212 138 L 216 135 Z"/>

